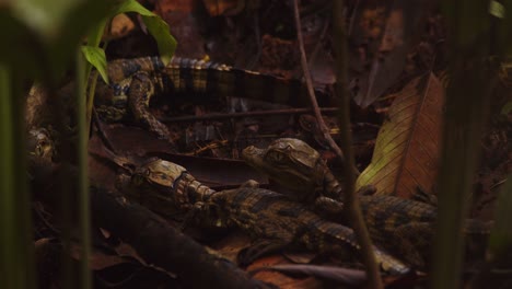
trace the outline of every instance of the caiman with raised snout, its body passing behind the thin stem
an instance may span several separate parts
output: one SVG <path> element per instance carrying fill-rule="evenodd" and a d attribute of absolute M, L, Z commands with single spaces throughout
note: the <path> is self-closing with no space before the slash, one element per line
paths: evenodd
<path fill-rule="evenodd" d="M 243 158 L 280 185 L 290 189 L 302 188 L 296 193 L 299 199 L 305 199 L 307 189 L 313 187 L 310 195 L 313 195 L 316 204 L 324 205 L 321 210 L 341 215 L 340 184 L 321 160 L 318 152 L 302 140 L 277 139 L 264 150 L 248 147 L 243 151 Z M 296 185 L 292 176 L 296 176 L 301 186 Z M 431 251 L 437 207 L 383 195 L 360 194 L 359 200 L 373 241 L 396 252 L 409 265 L 424 268 Z M 490 231 L 490 223 L 468 219 L 464 230 L 468 236 L 485 239 Z"/>

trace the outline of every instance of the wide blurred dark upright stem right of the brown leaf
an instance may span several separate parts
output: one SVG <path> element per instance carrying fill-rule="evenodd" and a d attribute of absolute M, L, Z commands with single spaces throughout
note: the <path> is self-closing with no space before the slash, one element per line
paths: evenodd
<path fill-rule="evenodd" d="M 487 1 L 445 1 L 451 31 L 450 74 L 439 170 L 439 217 L 432 267 L 433 288 L 461 288 L 463 226 L 478 161 L 494 65 Z M 477 21 L 476 21 L 477 20 Z"/>

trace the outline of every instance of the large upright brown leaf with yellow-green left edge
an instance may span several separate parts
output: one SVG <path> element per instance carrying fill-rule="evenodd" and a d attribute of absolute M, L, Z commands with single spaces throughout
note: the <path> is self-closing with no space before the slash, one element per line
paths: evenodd
<path fill-rule="evenodd" d="M 432 193 L 438 173 L 444 88 L 433 74 L 412 80 L 399 92 L 382 126 L 370 165 L 356 187 L 373 184 L 377 194 L 409 198 L 418 188 Z"/>

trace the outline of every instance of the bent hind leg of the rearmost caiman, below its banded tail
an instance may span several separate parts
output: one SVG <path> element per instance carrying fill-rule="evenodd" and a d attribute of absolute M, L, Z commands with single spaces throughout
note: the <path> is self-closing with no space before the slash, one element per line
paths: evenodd
<path fill-rule="evenodd" d="M 128 103 L 136 122 L 140 123 L 151 132 L 156 134 L 160 139 L 165 139 L 173 143 L 167 127 L 149 112 L 149 102 L 153 94 L 154 86 L 150 76 L 144 71 L 137 72 L 131 78 L 130 90 L 128 92 Z"/>

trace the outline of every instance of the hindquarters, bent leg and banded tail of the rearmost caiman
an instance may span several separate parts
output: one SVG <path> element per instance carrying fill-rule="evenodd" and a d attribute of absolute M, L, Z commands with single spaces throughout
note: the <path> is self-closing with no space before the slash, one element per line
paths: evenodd
<path fill-rule="evenodd" d="M 189 96 L 240 96 L 289 105 L 305 105 L 301 82 L 210 61 L 173 57 L 164 66 L 159 57 L 119 59 L 108 63 L 109 84 L 96 88 L 97 112 L 108 120 L 131 112 L 136 122 L 160 138 L 167 128 L 149 111 L 154 95 L 190 93 Z M 302 96 L 301 96 L 302 95 Z"/>

